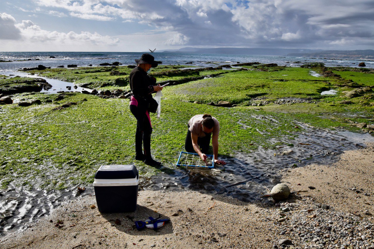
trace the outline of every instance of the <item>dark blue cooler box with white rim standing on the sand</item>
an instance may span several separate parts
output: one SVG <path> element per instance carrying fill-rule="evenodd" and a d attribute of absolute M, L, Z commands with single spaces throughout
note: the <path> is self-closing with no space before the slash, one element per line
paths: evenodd
<path fill-rule="evenodd" d="M 102 165 L 93 181 L 99 212 L 134 212 L 137 209 L 138 182 L 135 165 Z"/>

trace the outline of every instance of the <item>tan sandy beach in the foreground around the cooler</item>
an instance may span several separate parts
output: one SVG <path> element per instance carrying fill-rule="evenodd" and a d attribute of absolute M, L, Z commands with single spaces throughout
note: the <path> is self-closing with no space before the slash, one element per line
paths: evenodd
<path fill-rule="evenodd" d="M 338 214 L 356 219 L 355 224 L 364 222 L 367 237 L 357 241 L 371 246 L 374 245 L 370 215 L 374 214 L 373 161 L 374 143 L 371 143 L 361 150 L 345 151 L 331 165 L 285 169 L 281 181 L 288 182 L 291 191 L 298 192 L 281 203 L 291 208 L 286 214 L 280 211 L 279 204 L 245 203 L 191 190 L 140 191 L 136 212 L 101 214 L 95 206 L 95 197 L 85 196 L 55 209 L 51 215 L 30 224 L 26 231 L 0 238 L 0 248 L 273 248 L 281 239 L 290 239 L 291 248 L 300 248 L 312 242 L 295 236 L 292 224 L 287 222 L 306 218 L 310 215 L 309 210 L 306 212 L 308 208 L 317 212 L 318 217 L 327 215 L 329 219 L 331 215 L 332 221 L 332 216 Z M 353 187 L 360 193 L 353 191 Z M 327 204 L 330 209 L 320 210 L 319 204 Z M 157 217 L 158 213 L 171 222 L 158 231 L 134 228 L 133 221 Z M 283 223 L 280 217 L 285 217 Z M 61 228 L 55 227 L 58 220 L 64 222 Z M 322 222 L 321 218 L 319 223 Z M 334 245 L 346 246 L 347 242 L 339 237 L 327 248 Z"/>

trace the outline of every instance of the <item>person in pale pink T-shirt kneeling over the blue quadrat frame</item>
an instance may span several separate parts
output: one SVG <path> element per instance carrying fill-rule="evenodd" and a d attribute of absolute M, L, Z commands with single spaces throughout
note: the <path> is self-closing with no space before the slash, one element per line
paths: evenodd
<path fill-rule="evenodd" d="M 199 154 L 203 161 L 206 161 L 206 153 L 209 150 L 212 136 L 212 147 L 214 163 L 225 165 L 226 162 L 218 159 L 218 134 L 220 123 L 210 114 L 198 114 L 188 121 L 188 131 L 184 148 L 187 152 Z"/>

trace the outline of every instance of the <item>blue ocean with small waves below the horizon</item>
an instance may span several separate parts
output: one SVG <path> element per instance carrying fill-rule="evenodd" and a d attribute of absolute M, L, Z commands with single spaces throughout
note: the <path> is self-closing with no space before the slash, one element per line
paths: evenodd
<path fill-rule="evenodd" d="M 152 53 L 156 61 L 162 61 L 162 65 L 186 64 L 198 67 L 217 67 L 223 64 L 236 64 L 237 62 L 261 62 L 276 63 L 298 67 L 308 62 L 322 62 L 327 67 L 344 66 L 358 67 L 356 60 L 340 59 L 312 59 L 287 56 L 268 55 L 228 55 L 228 54 L 196 54 L 196 53 Z M 37 67 L 58 67 L 69 64 L 85 67 L 90 64 L 98 66 L 104 62 L 118 61 L 123 65 L 135 65 L 134 59 L 140 58 L 142 53 L 133 52 L 0 52 L 0 60 L 11 62 L 0 62 L 0 74 L 14 72 L 20 68 Z M 54 56 L 54 58 L 51 58 Z M 366 68 L 374 68 L 374 61 L 365 61 Z"/>

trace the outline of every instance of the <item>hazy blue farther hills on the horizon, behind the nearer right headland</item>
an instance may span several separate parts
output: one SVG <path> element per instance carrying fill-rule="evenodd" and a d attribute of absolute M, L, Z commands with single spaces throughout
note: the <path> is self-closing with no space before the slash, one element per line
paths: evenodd
<path fill-rule="evenodd" d="M 183 47 L 178 50 L 165 50 L 164 53 L 218 53 L 231 55 L 278 55 L 286 56 L 288 53 L 315 53 L 322 49 L 280 49 L 280 48 L 245 48 L 245 47 L 217 47 L 217 48 L 195 48 Z"/>

